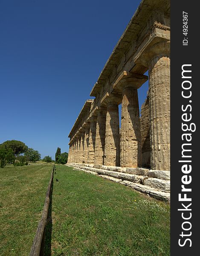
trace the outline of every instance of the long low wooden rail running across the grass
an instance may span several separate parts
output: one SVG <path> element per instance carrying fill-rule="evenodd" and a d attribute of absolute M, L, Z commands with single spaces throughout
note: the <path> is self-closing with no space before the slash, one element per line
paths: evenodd
<path fill-rule="evenodd" d="M 54 171 L 55 171 L 55 164 L 53 165 L 51 178 L 49 180 L 49 185 L 46 192 L 46 198 L 44 202 L 42 217 L 40 222 L 38 223 L 38 229 L 36 231 L 29 256 L 43 256 L 43 253 L 44 253 L 45 226 L 46 224 L 49 223 L 49 221 L 51 221 L 51 217 L 48 216 L 48 210 L 49 210 L 49 202 L 50 202 L 49 196 L 52 189 Z"/>

